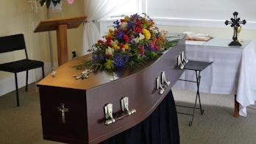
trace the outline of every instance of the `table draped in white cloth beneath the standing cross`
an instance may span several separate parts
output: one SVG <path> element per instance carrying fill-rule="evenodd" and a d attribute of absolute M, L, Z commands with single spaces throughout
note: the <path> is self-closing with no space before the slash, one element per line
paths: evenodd
<path fill-rule="evenodd" d="M 246 117 L 246 107 L 255 104 L 256 100 L 255 48 L 252 40 L 243 40 L 242 46 L 228 46 L 231 41 L 222 38 L 207 42 L 187 40 L 185 57 L 188 60 L 213 61 L 213 65 L 201 73 L 200 91 L 234 94 L 235 103 L 239 103 L 239 115 Z M 185 71 L 181 76 L 182 79 L 193 77 L 193 71 Z M 178 81 L 174 89 L 196 91 L 196 84 Z M 239 115 L 237 113 L 235 117 Z"/>

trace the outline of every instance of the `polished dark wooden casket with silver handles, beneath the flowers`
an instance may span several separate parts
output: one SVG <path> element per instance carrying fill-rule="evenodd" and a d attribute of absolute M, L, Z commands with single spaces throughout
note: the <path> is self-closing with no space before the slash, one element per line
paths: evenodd
<path fill-rule="evenodd" d="M 74 66 L 91 55 L 61 65 L 56 75 L 38 82 L 43 139 L 63 143 L 100 143 L 135 126 L 161 103 L 183 71 L 177 56 L 185 51 L 185 35 L 160 58 L 135 70 L 81 73 Z M 118 77 L 119 79 L 113 80 Z"/>

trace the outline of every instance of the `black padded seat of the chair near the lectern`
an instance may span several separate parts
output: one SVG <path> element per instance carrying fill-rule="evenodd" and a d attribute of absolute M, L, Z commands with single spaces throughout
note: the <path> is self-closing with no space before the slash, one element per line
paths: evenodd
<path fill-rule="evenodd" d="M 7 62 L 0 65 L 0 71 L 7 71 L 11 73 L 18 73 L 34 68 L 43 67 L 43 62 L 37 60 L 18 60 L 15 62 Z"/>

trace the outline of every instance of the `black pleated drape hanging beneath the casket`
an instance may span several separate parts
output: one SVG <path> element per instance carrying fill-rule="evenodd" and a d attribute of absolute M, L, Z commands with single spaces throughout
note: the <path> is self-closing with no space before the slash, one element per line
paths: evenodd
<path fill-rule="evenodd" d="M 172 91 L 148 118 L 102 144 L 179 144 L 177 111 Z"/>

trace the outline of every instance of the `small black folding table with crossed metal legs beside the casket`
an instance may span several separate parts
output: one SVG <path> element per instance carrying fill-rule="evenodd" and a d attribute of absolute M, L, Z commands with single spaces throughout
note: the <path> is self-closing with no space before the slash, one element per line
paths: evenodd
<path fill-rule="evenodd" d="M 195 71 L 196 81 L 189 80 L 189 79 L 179 79 L 180 81 L 185 81 L 185 82 L 195 82 L 196 86 L 197 86 L 196 101 L 195 101 L 193 107 L 176 105 L 177 107 L 186 107 L 186 108 L 192 108 L 193 109 L 192 114 L 184 113 L 184 112 L 177 112 L 178 114 L 191 115 L 192 116 L 191 120 L 188 122 L 189 126 L 191 126 L 192 123 L 193 123 L 193 115 L 195 114 L 195 109 L 200 109 L 201 115 L 204 114 L 204 109 L 202 109 L 200 93 L 199 93 L 200 80 L 201 80 L 201 71 L 203 71 L 205 68 L 207 68 L 207 66 L 211 65 L 212 63 L 213 62 L 201 62 L 201 61 L 189 60 L 188 63 L 185 65 L 184 69 Z M 199 107 L 196 107 L 197 99 L 199 100 Z"/>

